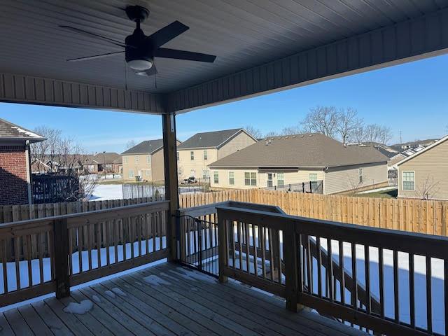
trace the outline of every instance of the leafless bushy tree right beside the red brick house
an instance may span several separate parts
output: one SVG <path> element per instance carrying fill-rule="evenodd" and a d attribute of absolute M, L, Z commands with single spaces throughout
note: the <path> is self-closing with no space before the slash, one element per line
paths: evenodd
<path fill-rule="evenodd" d="M 60 130 L 50 127 L 36 127 L 36 133 L 47 140 L 31 144 L 31 156 L 39 172 L 71 176 L 78 183 L 73 183 L 73 190 L 65 189 L 66 200 L 80 200 L 92 194 L 97 185 L 97 176 L 80 176 L 87 173 L 90 156 L 85 154 L 83 146 L 70 137 L 63 137 Z"/>

